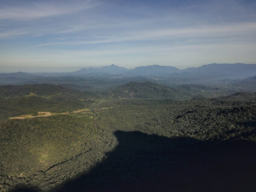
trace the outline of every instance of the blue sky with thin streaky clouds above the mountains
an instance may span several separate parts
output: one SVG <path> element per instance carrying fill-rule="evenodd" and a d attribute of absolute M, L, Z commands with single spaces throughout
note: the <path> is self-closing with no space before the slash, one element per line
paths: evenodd
<path fill-rule="evenodd" d="M 0 73 L 256 63 L 256 1 L 0 0 Z"/>

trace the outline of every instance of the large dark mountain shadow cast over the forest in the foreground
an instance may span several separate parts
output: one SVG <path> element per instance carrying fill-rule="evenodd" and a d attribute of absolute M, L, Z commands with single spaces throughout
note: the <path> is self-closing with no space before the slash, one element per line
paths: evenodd
<path fill-rule="evenodd" d="M 255 142 L 114 134 L 101 164 L 52 191 L 256 191 Z"/>

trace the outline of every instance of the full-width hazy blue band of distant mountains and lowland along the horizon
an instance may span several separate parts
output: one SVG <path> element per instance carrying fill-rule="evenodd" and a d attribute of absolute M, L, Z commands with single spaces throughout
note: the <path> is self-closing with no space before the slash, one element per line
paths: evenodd
<path fill-rule="evenodd" d="M 256 64 L 206 64 L 200 67 L 178 69 L 172 66 L 140 66 L 126 69 L 114 64 L 90 67 L 69 73 L 0 73 L 0 84 L 75 84 L 80 87 L 114 87 L 130 81 L 152 81 L 167 86 L 181 84 L 233 83 L 256 76 Z M 138 80 L 140 79 L 140 80 Z M 246 79 L 246 81 L 255 81 Z M 247 84 L 243 82 L 243 84 Z M 238 82 L 240 84 L 240 82 Z M 255 84 L 255 83 L 254 83 Z M 254 85 L 253 84 L 253 85 Z M 236 86 L 239 87 L 239 86 Z M 244 87 L 248 87 L 247 85 Z M 252 86 L 251 86 L 252 87 Z M 240 91 L 251 90 L 243 89 Z"/>

